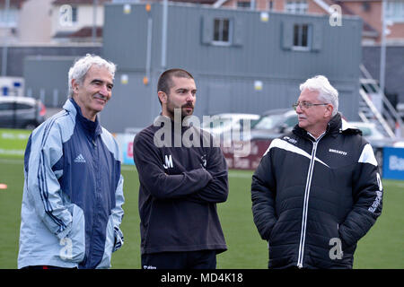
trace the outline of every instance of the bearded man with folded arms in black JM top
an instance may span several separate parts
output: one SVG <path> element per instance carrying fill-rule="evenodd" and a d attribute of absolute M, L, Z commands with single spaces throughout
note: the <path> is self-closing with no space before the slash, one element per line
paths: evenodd
<path fill-rule="evenodd" d="M 157 88 L 162 113 L 133 144 L 142 268 L 215 269 L 216 254 L 227 249 L 216 212 L 228 195 L 224 155 L 208 133 L 189 125 L 197 93 L 192 75 L 167 70 Z M 193 144 L 179 143 L 184 135 Z"/>

